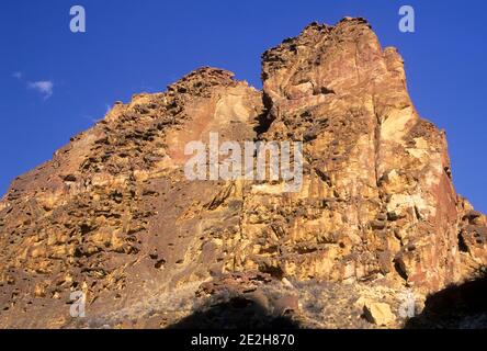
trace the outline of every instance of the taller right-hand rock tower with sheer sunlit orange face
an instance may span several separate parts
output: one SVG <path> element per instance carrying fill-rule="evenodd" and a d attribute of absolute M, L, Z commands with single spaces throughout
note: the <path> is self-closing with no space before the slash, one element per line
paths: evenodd
<path fill-rule="evenodd" d="M 304 140 L 305 182 L 297 194 L 246 199 L 271 218 L 244 222 L 264 242 L 244 260 L 253 251 L 299 279 L 382 274 L 424 291 L 456 281 L 444 134 L 416 112 L 397 50 L 383 49 L 361 19 L 310 24 L 263 55 L 262 77 L 273 122 L 261 137 Z"/>

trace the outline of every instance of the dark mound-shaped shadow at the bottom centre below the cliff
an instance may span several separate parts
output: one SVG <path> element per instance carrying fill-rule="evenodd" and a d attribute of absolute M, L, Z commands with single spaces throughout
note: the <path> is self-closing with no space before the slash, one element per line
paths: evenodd
<path fill-rule="evenodd" d="M 168 329 L 298 329 L 291 316 L 272 316 L 246 298 L 234 297 L 181 319 Z"/>

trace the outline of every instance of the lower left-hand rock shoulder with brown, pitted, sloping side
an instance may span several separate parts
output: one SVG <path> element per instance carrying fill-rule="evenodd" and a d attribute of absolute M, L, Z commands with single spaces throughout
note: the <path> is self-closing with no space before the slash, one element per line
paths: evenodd
<path fill-rule="evenodd" d="M 260 92 L 199 69 L 166 93 L 115 104 L 18 178 L 0 207 L 0 325 L 65 325 L 71 291 L 103 315 L 222 271 L 241 189 L 188 181 L 184 145 L 209 131 L 253 139 L 261 111 Z"/>

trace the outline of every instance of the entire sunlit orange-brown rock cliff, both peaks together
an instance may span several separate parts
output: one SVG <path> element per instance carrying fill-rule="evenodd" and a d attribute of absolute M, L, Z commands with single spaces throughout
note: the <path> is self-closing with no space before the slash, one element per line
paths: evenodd
<path fill-rule="evenodd" d="M 303 299 L 313 282 L 350 283 L 330 304 L 386 288 L 394 305 L 487 263 L 486 217 L 454 191 L 444 133 L 364 20 L 308 25 L 263 54 L 262 80 L 201 68 L 116 103 L 15 179 L 0 202 L 0 327 L 165 327 L 213 294 L 194 296 L 203 282 L 248 272 Z M 184 147 L 211 132 L 303 141 L 303 186 L 189 181 Z M 82 321 L 72 291 L 87 293 Z M 363 327 L 299 308 L 302 326 Z"/>

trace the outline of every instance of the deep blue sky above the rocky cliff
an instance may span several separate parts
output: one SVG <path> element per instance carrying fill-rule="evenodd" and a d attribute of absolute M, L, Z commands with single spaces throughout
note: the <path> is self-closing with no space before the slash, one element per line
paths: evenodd
<path fill-rule="evenodd" d="M 69 31 L 82 4 L 87 33 Z M 397 29 L 416 10 L 416 33 Z M 487 212 L 487 1 L 3 0 L 0 4 L 0 194 L 116 100 L 162 91 L 200 66 L 260 84 L 260 55 L 312 21 L 365 16 L 406 59 L 423 117 L 446 129 L 457 191 Z M 52 94 L 48 83 L 52 82 Z"/>

